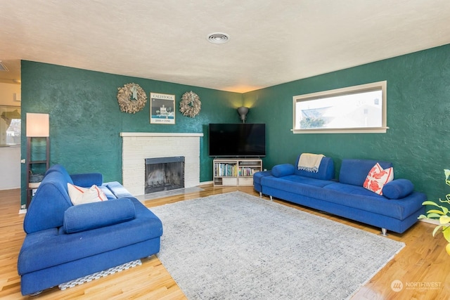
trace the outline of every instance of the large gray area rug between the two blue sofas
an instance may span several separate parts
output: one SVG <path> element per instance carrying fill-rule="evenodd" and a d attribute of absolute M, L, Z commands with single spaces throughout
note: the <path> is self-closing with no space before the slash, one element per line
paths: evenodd
<path fill-rule="evenodd" d="M 151 210 L 188 299 L 348 299 L 404 247 L 241 192 Z"/>

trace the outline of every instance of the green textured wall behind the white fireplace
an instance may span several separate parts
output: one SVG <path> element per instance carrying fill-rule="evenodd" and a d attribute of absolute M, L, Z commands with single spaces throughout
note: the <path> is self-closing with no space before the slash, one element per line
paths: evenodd
<path fill-rule="evenodd" d="M 150 124 L 146 107 L 136 114 L 121 112 L 117 88 L 134 82 L 150 92 L 176 96 L 176 124 Z M 179 112 L 186 91 L 198 94 L 202 110 L 195 118 Z M 240 122 L 236 107 L 242 94 L 164 81 L 92 72 L 71 67 L 22 61 L 22 111 L 49 113 L 51 164 L 63 164 L 71 174 L 99 171 L 105 181 L 122 181 L 120 132 L 204 133 L 200 144 L 200 181 L 212 180 L 212 159 L 207 156 L 207 124 Z M 22 157 L 26 157 L 25 135 Z M 22 204 L 25 200 L 25 164 L 22 166 Z"/>

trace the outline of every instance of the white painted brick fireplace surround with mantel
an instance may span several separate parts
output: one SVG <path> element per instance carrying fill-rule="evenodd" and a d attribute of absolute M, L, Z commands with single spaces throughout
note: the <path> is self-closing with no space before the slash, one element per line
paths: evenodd
<path fill-rule="evenodd" d="M 120 136 L 122 182 L 132 195 L 146 193 L 146 159 L 184 157 L 184 188 L 200 185 L 200 138 L 203 133 L 122 132 Z"/>

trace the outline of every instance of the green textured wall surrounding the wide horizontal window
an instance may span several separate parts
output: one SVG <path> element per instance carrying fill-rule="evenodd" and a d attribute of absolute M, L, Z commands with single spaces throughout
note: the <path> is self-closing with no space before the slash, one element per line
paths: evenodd
<path fill-rule="evenodd" d="M 387 133 L 293 134 L 293 96 L 387 80 Z M 338 72 L 245 93 L 255 103 L 255 122 L 267 124 L 264 167 L 294 162 L 301 152 L 394 164 L 396 178 L 409 178 L 436 200 L 449 193 L 450 46 L 441 46 Z"/>

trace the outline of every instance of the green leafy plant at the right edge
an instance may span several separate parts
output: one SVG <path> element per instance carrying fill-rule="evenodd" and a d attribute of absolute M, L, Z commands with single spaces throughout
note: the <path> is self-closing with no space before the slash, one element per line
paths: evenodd
<path fill-rule="evenodd" d="M 445 174 L 445 183 L 446 185 L 450 185 L 450 170 L 444 169 Z M 440 203 L 447 203 L 450 204 L 450 194 L 445 195 L 445 200 L 439 199 Z M 439 205 L 436 202 L 433 201 L 425 201 L 422 203 L 422 205 L 432 205 L 433 208 L 427 211 L 427 215 L 420 215 L 418 219 L 439 219 L 439 225 L 436 226 L 435 230 L 433 230 L 433 237 L 439 233 L 442 232 L 442 235 L 444 235 L 445 240 L 448 242 L 448 244 L 445 247 L 445 250 L 447 254 L 450 255 L 450 215 L 449 215 L 449 209 L 443 205 Z M 437 207 L 437 208 L 435 208 Z"/>

